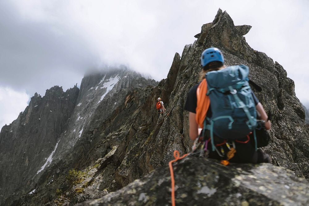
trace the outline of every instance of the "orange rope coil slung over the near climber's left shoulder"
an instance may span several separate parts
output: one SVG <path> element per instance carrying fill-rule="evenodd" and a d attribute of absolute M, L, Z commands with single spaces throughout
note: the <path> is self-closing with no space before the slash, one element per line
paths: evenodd
<path fill-rule="evenodd" d="M 203 123 L 210 105 L 210 98 L 209 96 L 206 96 L 206 93 L 207 93 L 207 82 L 206 79 L 203 79 L 201 83 L 198 85 L 196 90 L 197 105 L 196 105 L 195 121 L 201 128 L 204 127 Z"/>

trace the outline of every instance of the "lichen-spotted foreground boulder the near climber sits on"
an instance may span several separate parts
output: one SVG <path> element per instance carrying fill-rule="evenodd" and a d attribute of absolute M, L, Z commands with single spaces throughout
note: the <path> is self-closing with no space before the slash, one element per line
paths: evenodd
<path fill-rule="evenodd" d="M 230 164 L 186 157 L 174 163 L 176 205 L 308 205 L 309 184 L 271 164 Z M 82 205 L 171 205 L 169 167 Z"/>

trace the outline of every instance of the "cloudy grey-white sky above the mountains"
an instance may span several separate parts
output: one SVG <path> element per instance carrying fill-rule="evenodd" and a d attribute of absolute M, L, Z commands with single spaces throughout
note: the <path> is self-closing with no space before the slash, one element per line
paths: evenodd
<path fill-rule="evenodd" d="M 0 128 L 30 97 L 78 85 L 88 69 L 124 64 L 166 78 L 175 52 L 195 40 L 218 8 L 251 25 L 248 44 L 287 70 L 308 103 L 308 1 L 0 1 Z"/>

